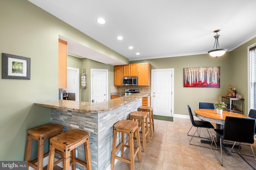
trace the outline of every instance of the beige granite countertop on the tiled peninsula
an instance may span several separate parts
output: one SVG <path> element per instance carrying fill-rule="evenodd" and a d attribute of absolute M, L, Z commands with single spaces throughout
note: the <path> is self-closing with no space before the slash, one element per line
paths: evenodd
<path fill-rule="evenodd" d="M 90 103 L 83 101 L 71 101 L 71 100 L 56 100 L 56 101 L 45 101 L 45 102 L 37 102 L 34 105 L 50 107 L 55 109 L 64 109 L 69 111 L 77 111 L 83 113 L 102 113 L 112 111 L 131 103 L 132 101 L 136 101 L 142 97 L 146 97 L 148 94 L 145 93 L 136 93 L 124 97 L 118 97 L 116 99 L 111 99 L 108 101 L 103 101 L 100 103 Z"/>

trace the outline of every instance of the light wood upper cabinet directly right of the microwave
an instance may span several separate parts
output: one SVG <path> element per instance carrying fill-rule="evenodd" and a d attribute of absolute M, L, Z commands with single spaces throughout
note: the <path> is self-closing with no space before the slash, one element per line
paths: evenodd
<path fill-rule="evenodd" d="M 150 63 L 138 63 L 138 86 L 150 86 Z"/>

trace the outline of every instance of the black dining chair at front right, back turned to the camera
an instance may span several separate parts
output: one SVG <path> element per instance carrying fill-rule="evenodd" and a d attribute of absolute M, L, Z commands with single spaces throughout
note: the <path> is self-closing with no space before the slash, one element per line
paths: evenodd
<path fill-rule="evenodd" d="M 238 154 L 248 164 L 250 164 L 250 163 L 242 156 L 242 153 L 240 153 L 240 144 L 241 144 L 241 142 L 250 144 L 251 149 L 252 149 L 252 153 L 254 155 L 254 159 L 256 160 L 255 154 L 254 154 L 254 151 L 253 151 L 253 148 L 252 148 L 252 144 L 254 143 L 254 129 L 255 129 L 255 119 L 240 118 L 240 117 L 226 117 L 224 129 L 214 129 L 214 131 L 216 132 L 214 134 L 214 137 L 216 136 L 216 134 L 218 136 L 220 136 L 221 161 L 216 156 L 214 151 L 212 150 L 212 144 L 211 144 L 211 150 L 212 150 L 213 154 L 216 156 L 216 158 L 218 159 L 218 161 L 220 162 L 220 164 L 222 166 L 223 166 L 223 156 L 222 156 L 222 144 L 221 143 L 222 143 L 223 140 L 234 141 L 234 145 L 231 149 L 232 152 L 233 152 L 233 148 L 234 148 L 236 142 L 239 142 Z M 214 137 L 213 137 L 212 142 L 214 141 Z M 252 164 L 250 164 L 250 166 L 252 166 Z"/>

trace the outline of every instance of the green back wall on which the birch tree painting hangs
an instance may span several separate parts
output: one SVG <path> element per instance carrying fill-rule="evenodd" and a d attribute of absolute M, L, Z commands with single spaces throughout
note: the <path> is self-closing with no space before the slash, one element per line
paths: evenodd
<path fill-rule="evenodd" d="M 221 101 L 221 96 L 226 95 L 226 89 L 231 83 L 230 52 L 218 57 L 218 59 L 210 57 L 208 54 L 202 54 L 130 61 L 130 63 L 146 62 L 150 63 L 151 69 L 174 68 L 174 114 L 188 115 L 187 105 L 190 105 L 191 109 L 194 110 L 198 109 L 199 102 Z M 184 68 L 212 66 L 220 66 L 220 88 L 183 87 Z"/>

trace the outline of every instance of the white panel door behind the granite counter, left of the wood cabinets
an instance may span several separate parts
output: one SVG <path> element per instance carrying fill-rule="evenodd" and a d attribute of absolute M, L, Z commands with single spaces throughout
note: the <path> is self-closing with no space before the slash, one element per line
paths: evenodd
<path fill-rule="evenodd" d="M 92 69 L 92 95 L 95 103 L 107 99 L 107 70 Z"/>

